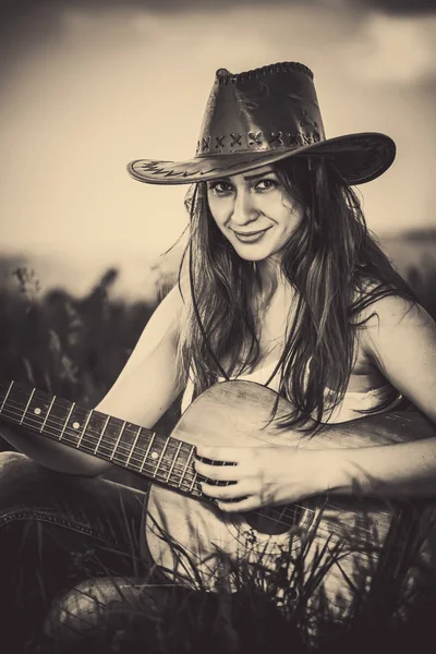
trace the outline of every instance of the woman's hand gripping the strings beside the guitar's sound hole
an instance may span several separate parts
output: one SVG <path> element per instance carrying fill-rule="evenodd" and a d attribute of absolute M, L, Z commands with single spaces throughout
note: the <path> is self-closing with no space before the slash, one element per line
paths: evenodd
<path fill-rule="evenodd" d="M 263 506 L 292 504 L 327 491 L 325 450 L 295 447 L 210 447 L 198 445 L 197 473 L 205 495 L 222 511 L 251 511 Z M 223 465 L 222 462 L 226 464 Z M 229 485 L 214 485 L 229 482 Z"/>

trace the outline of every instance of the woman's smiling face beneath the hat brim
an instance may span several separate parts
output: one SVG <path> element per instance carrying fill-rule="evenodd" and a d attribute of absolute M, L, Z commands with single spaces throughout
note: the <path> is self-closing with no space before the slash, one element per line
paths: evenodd
<path fill-rule="evenodd" d="M 210 213 L 244 259 L 277 258 L 303 216 L 271 166 L 207 183 Z"/>

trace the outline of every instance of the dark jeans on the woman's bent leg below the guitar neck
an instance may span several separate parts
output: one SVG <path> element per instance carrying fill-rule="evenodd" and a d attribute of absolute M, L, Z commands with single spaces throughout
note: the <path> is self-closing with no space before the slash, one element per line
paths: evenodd
<path fill-rule="evenodd" d="M 89 595 L 84 585 L 96 586 L 95 580 L 108 602 L 120 598 L 120 580 L 132 589 L 136 580 L 162 581 L 141 543 L 145 505 L 143 492 L 0 452 L 0 620 L 8 652 L 21 652 L 29 635 L 71 621 L 80 609 L 72 597 Z M 70 609 L 53 608 L 69 592 Z"/>

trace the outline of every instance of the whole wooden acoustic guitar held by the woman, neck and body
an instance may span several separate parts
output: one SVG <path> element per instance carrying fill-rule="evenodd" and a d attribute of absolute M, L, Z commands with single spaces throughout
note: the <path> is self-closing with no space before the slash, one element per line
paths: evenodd
<path fill-rule="evenodd" d="M 330 557 L 317 588 L 332 605 L 343 607 L 352 602 L 356 573 L 363 573 L 367 584 L 387 540 L 395 540 L 401 505 L 359 496 L 319 497 L 226 514 L 202 494 L 202 477 L 194 468 L 196 444 L 370 447 L 425 438 L 436 431 L 417 413 L 393 412 L 336 424 L 310 437 L 280 428 L 278 422 L 287 413 L 288 401 L 269 388 L 245 380 L 222 382 L 198 396 L 171 435 L 165 436 L 15 382 L 0 385 L 3 420 L 153 482 L 146 537 L 155 562 L 168 574 L 178 568 L 185 583 L 211 590 L 228 580 L 229 566 L 262 568 L 267 572 L 265 583 L 277 580 L 278 570 L 284 569 L 284 586 L 289 586 L 291 581 L 296 584 L 299 554 L 308 576 L 323 557 Z"/>

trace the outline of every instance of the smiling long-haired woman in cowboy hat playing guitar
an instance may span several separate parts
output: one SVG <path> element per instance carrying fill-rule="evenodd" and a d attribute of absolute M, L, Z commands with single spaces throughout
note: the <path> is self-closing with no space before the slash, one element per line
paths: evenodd
<path fill-rule="evenodd" d="M 331 437 L 335 424 L 400 409 L 405 400 L 436 423 L 436 325 L 368 233 L 352 190 L 393 158 L 384 134 L 325 137 L 306 66 L 219 70 L 196 156 L 129 166 L 146 183 L 192 184 L 190 241 L 180 283 L 97 409 L 152 428 L 181 393 L 184 411 L 215 383 L 240 378 L 289 401 L 290 432 L 319 433 L 328 423 Z M 97 537 L 129 549 L 114 528 L 116 496 L 135 514 L 136 535 L 134 492 L 77 479 L 98 477 L 110 463 L 24 431 L 3 426 L 2 435 L 29 458 L 2 456 L 0 520 L 14 522 L 17 507 L 27 505 L 29 518 L 61 518 L 63 540 L 75 530 L 81 543 Z M 326 491 L 386 497 L 436 491 L 436 437 L 326 449 L 238 447 L 235 438 L 231 447 L 198 445 L 196 455 L 196 471 L 210 481 L 203 492 L 222 512 Z M 53 484 L 62 502 L 47 508 Z M 78 511 L 84 497 L 86 510 Z"/>

